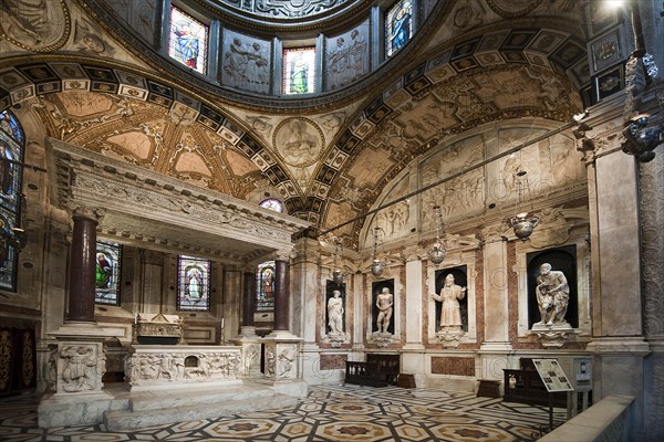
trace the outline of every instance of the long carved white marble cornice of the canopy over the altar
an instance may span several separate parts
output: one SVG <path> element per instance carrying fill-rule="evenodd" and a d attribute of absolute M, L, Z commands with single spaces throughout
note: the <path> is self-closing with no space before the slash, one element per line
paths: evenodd
<path fill-rule="evenodd" d="M 108 234 L 127 231 L 127 239 L 162 249 L 170 245 L 168 241 L 227 249 L 221 255 L 242 263 L 256 259 L 257 251 L 290 253 L 292 234 L 309 227 L 300 219 L 55 139 L 49 140 L 46 150 L 53 203 L 104 208 L 107 217 L 101 230 Z M 177 236 L 169 238 L 170 232 Z"/>

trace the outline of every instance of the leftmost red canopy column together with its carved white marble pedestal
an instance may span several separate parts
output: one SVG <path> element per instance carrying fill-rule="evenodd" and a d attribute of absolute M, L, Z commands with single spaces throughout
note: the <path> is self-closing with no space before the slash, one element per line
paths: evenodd
<path fill-rule="evenodd" d="M 103 391 L 105 341 L 124 335 L 122 328 L 101 327 L 94 320 L 96 225 L 103 210 L 77 207 L 70 252 L 69 314 L 62 327 L 49 332 L 49 371 L 55 392 L 38 407 L 40 428 L 98 423 L 113 396 Z"/>

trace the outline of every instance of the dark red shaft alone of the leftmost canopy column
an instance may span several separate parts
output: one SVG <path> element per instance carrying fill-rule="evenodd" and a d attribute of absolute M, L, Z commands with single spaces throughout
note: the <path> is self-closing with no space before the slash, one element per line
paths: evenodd
<path fill-rule="evenodd" d="M 96 220 L 74 214 L 68 320 L 94 322 Z"/>

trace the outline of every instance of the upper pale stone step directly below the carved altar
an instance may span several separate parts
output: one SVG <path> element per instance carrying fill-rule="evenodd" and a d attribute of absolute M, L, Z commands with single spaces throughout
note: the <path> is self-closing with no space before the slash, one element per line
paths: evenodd
<path fill-rule="evenodd" d="M 132 393 L 129 409 L 133 411 L 195 407 L 206 403 L 229 403 L 248 399 L 274 396 L 274 390 L 264 386 L 236 386 L 225 388 L 190 388 L 187 390 L 160 390 Z"/>

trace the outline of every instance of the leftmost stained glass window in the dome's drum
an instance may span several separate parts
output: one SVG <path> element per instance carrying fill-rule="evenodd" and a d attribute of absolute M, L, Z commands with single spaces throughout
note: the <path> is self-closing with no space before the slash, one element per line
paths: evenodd
<path fill-rule="evenodd" d="M 205 74 L 207 42 L 208 27 L 179 9 L 170 7 L 168 55 Z"/>

